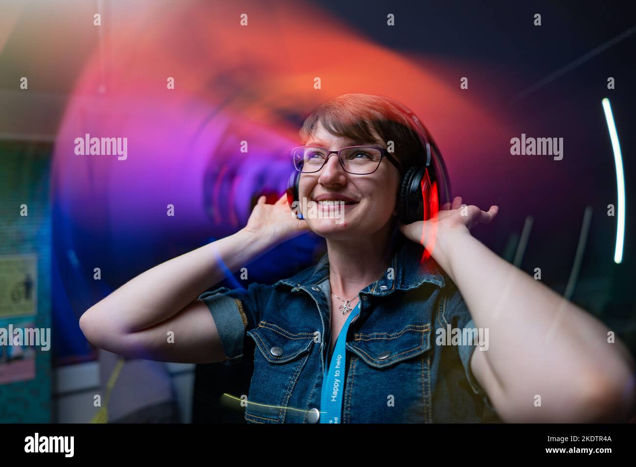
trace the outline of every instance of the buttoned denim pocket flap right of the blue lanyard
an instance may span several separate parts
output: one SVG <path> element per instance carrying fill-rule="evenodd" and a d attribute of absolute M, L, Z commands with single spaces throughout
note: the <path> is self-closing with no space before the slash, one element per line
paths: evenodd
<path fill-rule="evenodd" d="M 430 348 L 429 324 L 410 324 L 397 332 L 357 332 L 354 341 L 347 342 L 347 349 L 376 368 L 389 367 Z"/>

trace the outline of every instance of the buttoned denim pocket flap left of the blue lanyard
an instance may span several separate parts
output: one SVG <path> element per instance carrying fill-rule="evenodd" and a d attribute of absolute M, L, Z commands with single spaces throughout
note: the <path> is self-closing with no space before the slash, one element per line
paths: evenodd
<path fill-rule="evenodd" d="M 261 321 L 258 327 L 247 331 L 263 356 L 272 363 L 285 363 L 309 351 L 314 342 L 314 332 L 289 332 L 286 329 Z"/>

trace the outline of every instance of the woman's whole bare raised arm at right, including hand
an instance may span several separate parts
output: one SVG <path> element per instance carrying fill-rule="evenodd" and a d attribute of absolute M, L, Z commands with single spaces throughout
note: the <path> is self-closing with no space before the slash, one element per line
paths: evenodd
<path fill-rule="evenodd" d="M 625 420 L 635 402 L 634 363 L 625 345 L 618 338 L 608 342 L 601 321 L 470 234 L 470 227 L 495 217 L 497 206 L 462 208 L 457 197 L 445 207 L 436 219 L 401 231 L 429 249 L 457 284 L 475 326 L 488 328 L 488 350 L 474 351 L 471 370 L 499 416 L 509 422 Z"/>

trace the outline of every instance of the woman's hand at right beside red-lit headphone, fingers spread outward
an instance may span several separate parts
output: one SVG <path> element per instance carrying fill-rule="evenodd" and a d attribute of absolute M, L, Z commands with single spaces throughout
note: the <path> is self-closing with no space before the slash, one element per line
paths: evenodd
<path fill-rule="evenodd" d="M 452 203 L 446 203 L 441 210 L 426 222 L 418 220 L 413 224 L 399 224 L 401 233 L 411 241 L 423 245 L 427 250 L 434 250 L 436 239 L 444 238 L 450 233 L 468 233 L 478 224 L 488 224 L 499 212 L 499 206 L 490 206 L 488 212 L 477 206 L 462 207 L 462 198 L 456 196 Z"/>

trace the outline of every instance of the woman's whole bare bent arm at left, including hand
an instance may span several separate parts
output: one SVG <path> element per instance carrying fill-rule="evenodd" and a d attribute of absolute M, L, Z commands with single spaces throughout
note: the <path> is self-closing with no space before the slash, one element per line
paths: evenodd
<path fill-rule="evenodd" d="M 88 341 L 119 355 L 162 362 L 226 360 L 216 324 L 197 297 L 270 248 L 307 229 L 285 197 L 262 196 L 247 226 L 139 274 L 89 308 L 79 326 Z M 174 332 L 174 342 L 168 333 Z"/>

